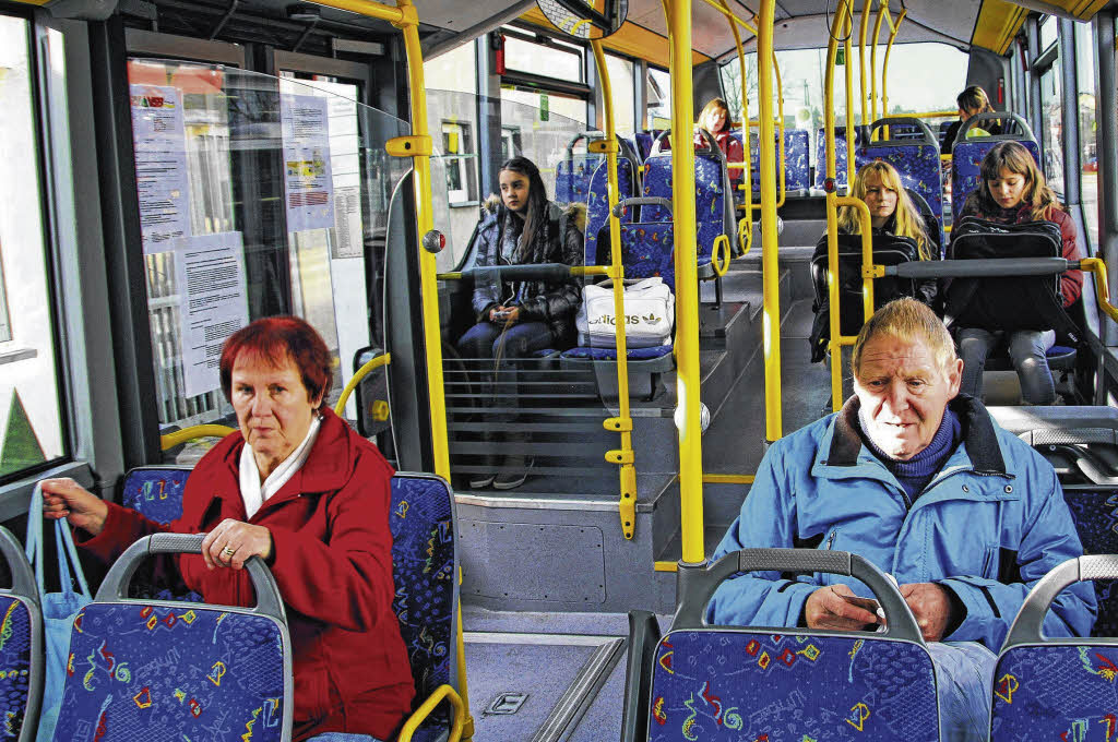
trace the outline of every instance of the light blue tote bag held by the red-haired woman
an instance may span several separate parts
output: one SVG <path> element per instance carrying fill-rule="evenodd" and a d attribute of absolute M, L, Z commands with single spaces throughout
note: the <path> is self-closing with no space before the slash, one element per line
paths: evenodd
<path fill-rule="evenodd" d="M 74 616 L 93 600 L 89 586 L 77 560 L 74 538 L 65 520 L 55 521 L 55 545 L 58 549 L 58 581 L 61 592 L 47 592 L 42 578 L 42 491 L 35 485 L 31 506 L 27 512 L 27 559 L 35 568 L 42 605 L 42 637 L 47 653 L 46 682 L 42 684 L 42 706 L 39 712 L 39 731 L 36 736 L 44 742 L 54 738 L 58 708 L 66 684 L 66 658 L 69 655 L 70 627 Z M 75 590 L 75 579 L 77 590 Z"/>

